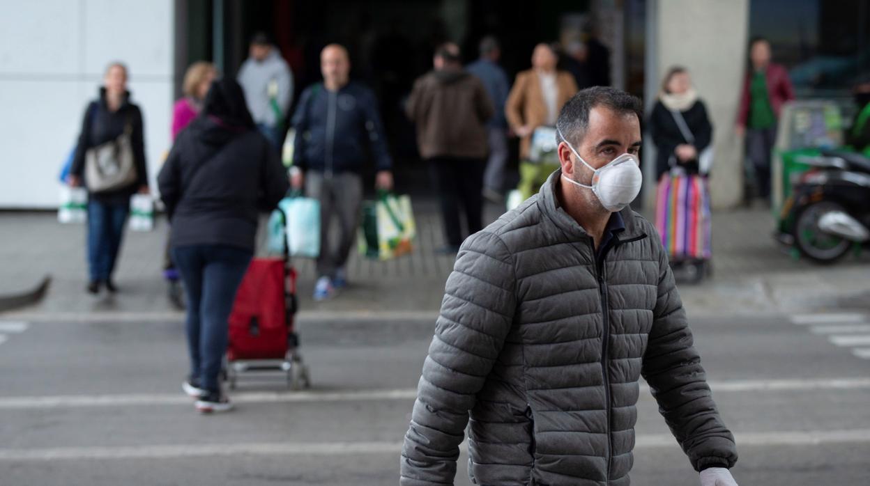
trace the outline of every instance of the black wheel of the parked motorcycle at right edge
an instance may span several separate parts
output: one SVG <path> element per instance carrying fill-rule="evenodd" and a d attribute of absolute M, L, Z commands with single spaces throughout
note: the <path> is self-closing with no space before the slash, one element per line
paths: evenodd
<path fill-rule="evenodd" d="M 794 244 L 801 255 L 816 263 L 834 263 L 846 255 L 852 242 L 841 236 L 829 235 L 819 228 L 821 216 L 843 207 L 832 201 L 820 201 L 800 210 L 794 223 Z"/>

